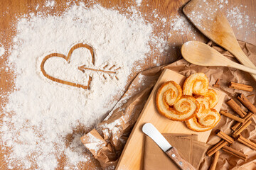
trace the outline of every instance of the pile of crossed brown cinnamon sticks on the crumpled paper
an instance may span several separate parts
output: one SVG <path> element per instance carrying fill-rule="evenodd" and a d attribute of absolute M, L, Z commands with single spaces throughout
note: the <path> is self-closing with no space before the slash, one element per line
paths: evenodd
<path fill-rule="evenodd" d="M 256 113 L 256 107 L 250 103 L 250 101 L 245 97 L 243 94 L 238 95 L 238 100 L 242 103 L 245 108 L 247 108 L 248 112 L 246 113 L 245 111 L 242 110 L 242 108 L 236 103 L 232 98 L 227 101 L 228 106 L 235 111 L 235 113 L 238 113 L 240 118 L 238 116 L 235 116 L 231 113 L 228 113 L 227 111 L 220 111 L 222 115 L 225 115 L 228 118 L 231 118 L 237 123 L 231 127 L 233 130 L 233 133 L 230 135 L 225 134 L 225 132 L 222 132 L 220 130 L 215 130 L 215 135 L 220 137 L 222 140 L 215 144 L 212 148 L 210 148 L 207 152 L 208 156 L 210 157 L 211 155 L 214 154 L 214 159 L 213 162 L 210 166 L 210 170 L 214 170 L 215 166 L 218 162 L 218 157 L 219 157 L 219 150 L 222 149 L 224 152 L 230 153 L 235 157 L 238 157 L 244 161 L 247 159 L 247 155 L 243 154 L 242 152 L 238 152 L 237 150 L 229 147 L 228 145 L 233 144 L 233 142 L 238 141 L 242 143 L 243 145 L 250 147 L 251 149 L 256 150 L 256 143 L 252 142 L 250 140 L 245 139 L 245 137 L 242 137 L 240 133 L 247 128 L 252 121 L 250 118 L 252 118 L 252 115 Z"/>

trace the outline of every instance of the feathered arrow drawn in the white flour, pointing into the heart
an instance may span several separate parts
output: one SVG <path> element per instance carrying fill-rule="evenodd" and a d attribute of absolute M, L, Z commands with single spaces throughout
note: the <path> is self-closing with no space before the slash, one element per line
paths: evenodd
<path fill-rule="evenodd" d="M 121 69 L 121 67 L 118 67 L 118 68 L 114 69 L 116 67 L 115 64 L 112 65 L 109 69 L 107 69 L 107 67 L 109 67 L 108 64 L 106 64 L 103 67 L 103 69 L 92 69 L 92 68 L 86 67 L 85 65 L 82 65 L 82 66 L 79 66 L 78 69 L 83 73 L 85 72 L 85 70 L 90 70 L 92 72 L 102 72 L 103 73 L 102 77 L 104 79 L 107 79 L 107 77 L 105 77 L 105 74 L 107 74 L 111 79 L 115 78 L 115 79 L 119 80 L 118 77 L 117 77 L 117 70 Z"/>

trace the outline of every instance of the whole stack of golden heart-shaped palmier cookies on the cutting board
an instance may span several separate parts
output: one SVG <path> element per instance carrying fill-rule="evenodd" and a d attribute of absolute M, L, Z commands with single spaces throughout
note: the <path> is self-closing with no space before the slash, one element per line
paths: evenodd
<path fill-rule="evenodd" d="M 156 108 L 166 118 L 185 121 L 188 128 L 203 132 L 215 127 L 220 114 L 214 109 L 217 93 L 208 89 L 206 74 L 191 74 L 181 86 L 174 81 L 162 84 L 156 94 Z"/>

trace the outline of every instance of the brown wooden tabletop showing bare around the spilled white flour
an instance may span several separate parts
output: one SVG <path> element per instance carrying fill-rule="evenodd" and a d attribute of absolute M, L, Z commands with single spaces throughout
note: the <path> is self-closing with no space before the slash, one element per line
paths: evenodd
<path fill-rule="evenodd" d="M 141 11 L 142 13 L 152 13 L 154 10 L 156 10 L 159 13 L 159 16 L 161 17 L 170 17 L 174 16 L 178 13 L 178 11 L 181 10 L 181 6 L 183 4 L 186 4 L 188 0 L 156 0 L 156 1 L 146 1 L 142 0 L 141 6 L 137 6 L 135 1 L 126 1 L 126 0 L 108 0 L 103 1 L 99 0 L 97 1 L 98 4 L 101 4 L 105 8 L 118 8 L 118 7 L 125 7 L 128 6 L 137 6 L 137 9 Z M 218 0 L 215 0 L 218 1 Z M 58 11 L 59 14 L 61 14 L 68 6 L 67 3 L 68 0 L 55 0 L 55 6 L 53 8 L 50 8 L 46 11 L 46 13 L 55 13 Z M 78 4 L 78 1 L 75 1 L 76 4 Z M 18 16 L 22 16 L 23 14 L 28 14 L 31 12 L 36 12 L 35 8 L 37 5 L 39 5 L 38 11 L 44 11 L 42 8 L 43 5 L 45 5 L 45 0 L 0 0 L 0 42 L 4 45 L 4 48 L 7 50 L 9 47 L 11 47 L 12 38 L 16 35 L 16 31 L 13 27 L 13 24 L 17 22 Z M 87 1 L 85 1 L 85 4 L 87 4 Z M 245 40 L 247 42 L 250 42 L 254 45 L 256 45 L 256 0 L 228 0 L 228 4 L 225 4 L 225 1 L 222 3 L 223 8 L 222 11 L 228 15 L 228 10 L 232 10 L 236 6 L 240 9 L 242 13 L 244 13 L 244 16 L 247 15 L 250 18 L 250 23 L 252 26 L 247 27 L 244 26 L 242 29 L 239 29 L 237 24 L 234 24 L 233 30 L 235 32 L 235 35 L 239 40 Z M 152 17 L 151 15 L 147 15 L 151 21 L 156 21 L 157 18 Z M 239 16 L 238 16 L 239 17 Z M 242 18 L 242 22 L 245 21 L 245 18 Z M 254 27 L 253 27 L 254 26 Z M 183 42 L 186 42 L 188 40 L 193 40 L 194 35 L 191 35 L 189 33 L 185 33 L 183 35 L 180 35 L 178 33 L 172 32 L 171 28 L 165 27 L 165 28 L 157 28 L 156 32 L 161 29 L 161 32 L 164 32 L 166 35 L 168 33 L 173 33 L 173 36 L 171 38 L 168 38 L 169 42 L 169 52 L 166 55 L 166 57 L 161 57 L 159 59 L 160 64 L 168 64 L 170 62 L 173 62 L 176 60 L 177 56 L 180 56 L 179 47 L 183 44 Z M 195 28 L 196 29 L 196 28 Z M 253 30 L 254 29 L 254 30 Z M 168 36 L 167 36 L 168 37 Z M 202 40 L 204 42 L 207 42 L 208 39 L 205 38 L 201 33 L 196 33 L 196 40 Z M 175 47 L 175 48 L 173 48 Z M 6 52 L 1 58 L 0 58 L 0 93 L 2 95 L 7 94 L 10 91 L 14 90 L 14 77 L 12 77 L 12 70 L 6 71 L 4 62 L 6 62 L 8 57 L 8 52 Z M 149 60 L 146 61 L 144 65 L 142 65 L 142 69 L 149 69 L 151 67 L 155 67 L 155 64 L 153 63 L 154 56 L 150 56 Z M 134 75 L 137 73 L 134 73 Z M 134 77 L 132 75 L 132 77 Z M 132 79 L 132 78 L 131 78 Z M 7 81 L 6 81 L 7 80 Z M 6 101 L 5 97 L 0 98 L 0 113 L 3 112 L 3 104 Z M 1 117 L 0 117 L 1 118 Z M 1 125 L 1 120 L 0 120 Z M 2 142 L 0 142 L 2 145 Z M 0 146 L 0 169 L 7 169 L 6 162 L 4 162 L 4 150 L 1 149 Z M 60 154 L 61 155 L 61 154 Z M 90 157 L 92 157 L 92 154 L 88 154 Z M 65 157 L 62 157 L 58 164 L 58 169 L 63 169 L 65 166 Z M 87 162 L 86 164 L 81 165 L 81 169 L 100 169 L 100 164 L 95 160 L 93 157 L 90 162 Z"/>

